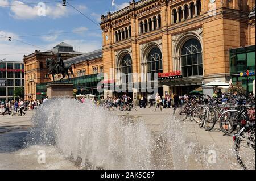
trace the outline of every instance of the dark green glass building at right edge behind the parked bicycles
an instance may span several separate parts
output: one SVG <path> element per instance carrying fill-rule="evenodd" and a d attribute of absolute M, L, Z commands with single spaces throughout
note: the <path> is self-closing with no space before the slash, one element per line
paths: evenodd
<path fill-rule="evenodd" d="M 248 92 L 253 92 L 253 80 L 255 79 L 255 45 L 229 50 L 230 78 L 233 85 L 242 82 Z"/>

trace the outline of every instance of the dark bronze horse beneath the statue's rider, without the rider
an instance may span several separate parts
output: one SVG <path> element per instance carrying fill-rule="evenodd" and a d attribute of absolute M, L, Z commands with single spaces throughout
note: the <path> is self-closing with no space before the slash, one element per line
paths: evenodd
<path fill-rule="evenodd" d="M 59 72 L 62 75 L 60 82 L 62 81 L 62 79 L 65 78 L 65 75 L 68 76 L 68 82 L 70 81 L 68 71 L 70 71 L 71 74 L 73 76 L 75 76 L 71 66 L 59 66 L 59 70 L 58 70 L 56 62 L 54 60 L 52 60 L 51 58 L 46 59 L 46 67 L 47 67 L 47 69 L 49 69 L 48 77 L 49 77 L 49 75 L 52 75 L 53 82 L 55 82 L 54 75 L 58 74 Z"/>

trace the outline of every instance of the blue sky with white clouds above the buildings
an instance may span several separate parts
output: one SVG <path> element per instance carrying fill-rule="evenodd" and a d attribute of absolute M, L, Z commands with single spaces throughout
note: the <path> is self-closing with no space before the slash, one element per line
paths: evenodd
<path fill-rule="evenodd" d="M 129 6 L 129 0 L 114 0 L 113 6 L 112 1 L 67 0 L 92 22 L 62 1 L 0 0 L 0 61 L 22 61 L 24 54 L 50 50 L 62 41 L 83 53 L 100 49 L 101 15 Z"/>

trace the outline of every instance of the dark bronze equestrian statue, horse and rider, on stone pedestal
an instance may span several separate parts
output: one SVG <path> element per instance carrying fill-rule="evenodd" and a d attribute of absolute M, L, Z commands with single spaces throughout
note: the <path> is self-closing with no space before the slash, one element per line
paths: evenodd
<path fill-rule="evenodd" d="M 52 75 L 53 82 L 55 82 L 55 80 L 54 80 L 54 75 L 55 74 L 61 74 L 62 75 L 62 78 L 60 79 L 60 82 L 65 78 L 66 75 L 68 76 L 68 82 L 70 81 L 68 71 L 70 71 L 70 73 L 73 76 L 75 76 L 71 66 L 65 66 L 64 65 L 63 59 L 61 58 L 61 54 L 59 53 L 59 51 L 58 51 L 58 54 L 57 54 L 56 62 L 55 62 L 55 60 L 52 60 L 51 58 L 46 59 L 46 67 L 47 67 L 47 69 L 49 69 L 48 77 L 49 77 L 49 75 Z"/>

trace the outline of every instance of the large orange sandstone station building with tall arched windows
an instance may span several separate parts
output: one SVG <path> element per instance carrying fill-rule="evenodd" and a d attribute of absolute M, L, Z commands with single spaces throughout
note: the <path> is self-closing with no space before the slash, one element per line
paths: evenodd
<path fill-rule="evenodd" d="M 214 79 L 228 82 L 229 50 L 255 45 L 254 6 L 255 0 L 141 0 L 102 15 L 105 82 L 127 81 L 117 73 L 144 73 L 133 83 L 164 73 L 162 95 L 188 93 Z M 133 90 L 134 98 L 144 94 Z"/>

